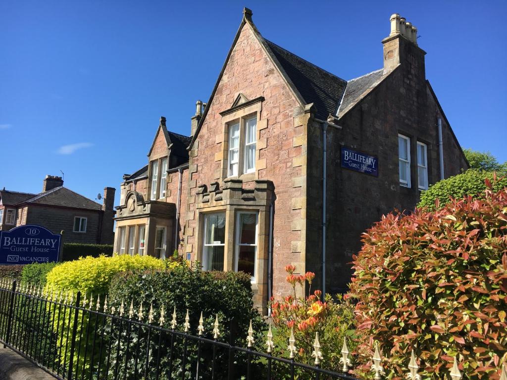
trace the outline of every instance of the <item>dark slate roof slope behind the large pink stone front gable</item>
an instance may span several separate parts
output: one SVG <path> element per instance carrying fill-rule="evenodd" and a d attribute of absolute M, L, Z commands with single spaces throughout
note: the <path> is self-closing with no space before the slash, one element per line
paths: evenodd
<path fill-rule="evenodd" d="M 261 37 L 262 38 L 262 37 Z M 319 119 L 336 114 L 347 81 L 264 39 L 268 53 L 276 58 L 306 104 L 313 103 Z"/>

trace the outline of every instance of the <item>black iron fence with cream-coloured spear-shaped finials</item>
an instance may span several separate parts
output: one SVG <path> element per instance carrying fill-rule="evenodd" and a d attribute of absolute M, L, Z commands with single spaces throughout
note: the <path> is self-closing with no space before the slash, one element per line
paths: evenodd
<path fill-rule="evenodd" d="M 212 331 L 204 331 L 202 318 L 196 335 L 188 317 L 177 329 L 175 312 L 171 328 L 162 327 L 162 309 L 118 308 L 86 294 L 34 289 L 16 281 L 0 282 L 0 341 L 38 364 L 58 379 L 349 379 L 319 367 L 320 346 L 314 346 L 316 365 L 272 355 L 268 334 L 266 352 L 253 350 L 253 331 L 245 335 L 247 347 L 221 341 L 218 317 Z M 127 310 L 128 309 L 128 310 Z M 155 318 L 157 314 L 158 318 Z M 156 320 L 157 319 L 157 320 Z M 180 331 L 183 330 L 183 331 Z M 294 357 L 296 347 L 287 350 Z"/>

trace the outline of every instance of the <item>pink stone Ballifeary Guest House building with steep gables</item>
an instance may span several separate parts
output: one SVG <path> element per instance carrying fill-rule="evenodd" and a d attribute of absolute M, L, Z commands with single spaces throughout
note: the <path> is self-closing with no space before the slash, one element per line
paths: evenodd
<path fill-rule="evenodd" d="M 115 251 L 244 271 L 266 311 L 289 291 L 289 263 L 346 291 L 361 233 L 468 163 L 400 15 L 383 67 L 348 81 L 266 40 L 251 15 L 191 136 L 162 117 L 145 166 L 124 176 Z"/>

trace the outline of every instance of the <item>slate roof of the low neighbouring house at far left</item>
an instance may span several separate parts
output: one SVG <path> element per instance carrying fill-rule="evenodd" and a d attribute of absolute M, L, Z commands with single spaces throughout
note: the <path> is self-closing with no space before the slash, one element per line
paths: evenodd
<path fill-rule="evenodd" d="M 99 203 L 93 202 L 63 186 L 52 188 L 40 194 L 1 190 L 0 196 L 2 197 L 2 203 L 10 206 L 20 205 L 22 203 L 34 203 L 49 206 L 84 208 L 88 210 L 102 209 L 102 205 Z"/>

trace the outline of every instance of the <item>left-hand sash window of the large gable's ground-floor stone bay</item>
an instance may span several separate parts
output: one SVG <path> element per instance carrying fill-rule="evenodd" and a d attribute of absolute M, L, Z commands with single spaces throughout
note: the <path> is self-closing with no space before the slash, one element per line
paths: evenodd
<path fill-rule="evenodd" d="M 202 264 L 205 271 L 224 270 L 225 212 L 204 215 Z"/>

